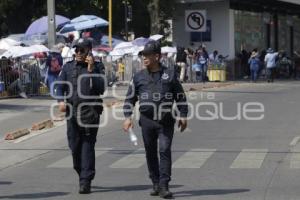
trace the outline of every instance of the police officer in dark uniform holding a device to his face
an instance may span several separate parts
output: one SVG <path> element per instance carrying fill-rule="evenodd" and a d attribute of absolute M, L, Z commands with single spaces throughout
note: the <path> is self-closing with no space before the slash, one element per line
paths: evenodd
<path fill-rule="evenodd" d="M 104 82 L 90 53 L 91 40 L 81 38 L 75 41 L 74 47 L 75 60 L 63 66 L 58 80 L 67 83 L 58 82 L 57 96 L 60 97 L 59 110 L 70 117 L 67 120 L 67 136 L 73 166 L 79 175 L 79 193 L 88 194 L 95 176 L 95 143 L 102 112 L 100 94 L 104 92 Z M 64 95 L 68 96 L 68 106 L 61 98 Z"/>

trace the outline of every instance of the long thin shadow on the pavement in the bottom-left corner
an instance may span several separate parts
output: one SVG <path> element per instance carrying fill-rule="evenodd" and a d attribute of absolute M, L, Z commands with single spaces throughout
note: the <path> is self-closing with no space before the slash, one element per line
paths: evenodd
<path fill-rule="evenodd" d="M 66 193 L 66 192 L 41 192 L 41 193 L 33 193 L 33 194 L 14 194 L 11 196 L 0 196 L 0 199 L 44 199 L 44 198 L 64 196 L 67 194 L 69 194 L 69 193 Z"/>

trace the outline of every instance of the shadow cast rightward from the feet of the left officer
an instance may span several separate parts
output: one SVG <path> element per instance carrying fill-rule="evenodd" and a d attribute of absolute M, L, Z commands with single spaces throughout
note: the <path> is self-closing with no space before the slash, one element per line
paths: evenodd
<path fill-rule="evenodd" d="M 170 188 L 179 188 L 183 185 L 171 185 Z M 128 185 L 128 186 L 117 186 L 117 187 L 100 187 L 92 186 L 92 193 L 96 192 L 113 192 L 113 191 L 139 191 L 152 189 L 152 185 Z"/>

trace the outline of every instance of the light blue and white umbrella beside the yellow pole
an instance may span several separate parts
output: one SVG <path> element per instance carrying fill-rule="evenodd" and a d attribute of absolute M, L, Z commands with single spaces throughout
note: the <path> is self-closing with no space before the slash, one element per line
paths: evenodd
<path fill-rule="evenodd" d="M 64 25 L 60 33 L 71 31 L 80 31 L 89 28 L 108 26 L 108 21 L 95 15 L 80 15 L 71 20 L 69 24 Z"/>

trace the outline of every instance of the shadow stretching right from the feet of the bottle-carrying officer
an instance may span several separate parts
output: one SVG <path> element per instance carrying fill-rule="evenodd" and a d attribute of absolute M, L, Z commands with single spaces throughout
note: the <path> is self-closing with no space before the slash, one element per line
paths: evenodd
<path fill-rule="evenodd" d="M 192 197 L 192 196 L 206 196 L 206 195 L 225 195 L 232 193 L 249 192 L 249 189 L 212 189 L 212 190 L 189 190 L 174 192 L 174 197 Z"/>

